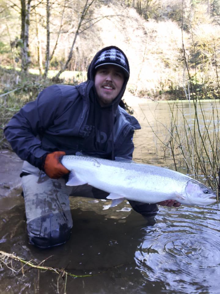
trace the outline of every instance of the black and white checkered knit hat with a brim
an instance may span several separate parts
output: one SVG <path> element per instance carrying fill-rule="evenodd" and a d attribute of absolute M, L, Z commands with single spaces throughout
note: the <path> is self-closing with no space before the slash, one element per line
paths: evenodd
<path fill-rule="evenodd" d="M 101 52 L 95 62 L 95 69 L 106 64 L 119 66 L 123 70 L 125 77 L 130 76 L 130 69 L 127 57 L 119 48 L 110 48 Z"/>

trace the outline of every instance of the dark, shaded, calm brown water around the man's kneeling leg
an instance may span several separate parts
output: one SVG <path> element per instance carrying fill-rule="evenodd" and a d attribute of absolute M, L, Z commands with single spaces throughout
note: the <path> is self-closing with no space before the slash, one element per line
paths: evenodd
<path fill-rule="evenodd" d="M 106 213 L 102 210 L 103 202 L 92 203 L 94 206 L 91 206 L 90 199 L 81 199 L 81 203 L 79 199 L 71 199 L 72 205 L 78 208 L 72 210 L 74 227 L 70 239 L 66 244 L 50 250 L 40 250 L 28 244 L 23 205 L 5 211 L 0 224 L 3 228 L 0 232 L 1 250 L 16 252 L 16 255 L 36 264 L 46 259 L 45 266 L 64 268 L 73 274 L 94 275 L 68 278 L 67 293 L 72 293 L 73 287 L 79 294 L 144 293 L 146 282 L 136 269 L 134 255 L 142 236 L 142 227 L 153 226 L 154 218 L 145 220 L 134 211 L 128 212 L 125 209 L 127 202 L 112 208 L 112 213 L 111 209 Z M 93 211 L 94 207 L 105 213 Z M 11 225 L 14 230 L 11 230 Z M 13 262 L 10 268 L 17 271 L 21 265 Z M 58 293 L 58 277 L 54 273 L 29 269 L 23 275 L 21 270 L 16 273 L 10 268 L 2 267 L 0 270 L 1 293 L 35 293 L 36 288 L 39 293 Z M 64 293 L 64 280 L 60 278 L 58 285 L 59 293 Z"/>

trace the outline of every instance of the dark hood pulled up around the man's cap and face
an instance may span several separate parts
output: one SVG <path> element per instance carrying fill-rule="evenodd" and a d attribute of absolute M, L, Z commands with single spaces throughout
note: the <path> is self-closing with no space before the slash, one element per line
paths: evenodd
<path fill-rule="evenodd" d="M 95 73 L 96 73 L 95 63 L 96 63 L 98 57 L 101 55 L 101 53 L 106 51 L 106 50 L 109 50 L 109 49 L 116 49 L 116 50 L 120 51 L 123 54 L 123 56 L 124 56 L 124 58 L 126 60 L 128 71 L 130 72 L 129 62 L 128 62 L 127 56 L 124 54 L 124 52 L 121 49 L 119 49 L 118 47 L 116 47 L 116 46 L 108 46 L 108 47 L 105 47 L 105 48 L 101 49 L 100 51 L 98 51 L 96 53 L 96 55 L 94 56 L 93 60 L 91 61 L 90 65 L 89 65 L 89 68 L 88 68 L 88 71 L 87 71 L 87 82 L 89 82 L 89 81 L 94 82 L 94 77 L 95 77 Z M 112 64 L 114 64 L 114 62 L 112 62 Z M 114 110 L 117 109 L 117 107 L 119 105 L 119 102 L 121 101 L 121 99 L 122 99 L 122 97 L 124 95 L 128 80 L 129 80 L 129 76 L 125 76 L 125 80 L 124 80 L 122 89 L 119 92 L 118 96 L 113 100 L 113 102 L 109 103 L 109 105 L 107 105 L 106 107 L 110 107 L 110 106 L 113 105 Z M 94 85 L 93 85 L 93 92 L 95 94 L 94 96 L 97 97 L 96 89 L 95 89 Z"/>

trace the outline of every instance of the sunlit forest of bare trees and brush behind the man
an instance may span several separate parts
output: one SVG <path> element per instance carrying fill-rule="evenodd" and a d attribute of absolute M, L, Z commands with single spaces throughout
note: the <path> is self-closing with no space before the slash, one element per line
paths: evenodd
<path fill-rule="evenodd" d="M 126 53 L 134 96 L 219 98 L 220 0 L 0 0 L 0 16 L 1 147 L 14 112 L 48 85 L 84 81 L 108 45 Z"/>

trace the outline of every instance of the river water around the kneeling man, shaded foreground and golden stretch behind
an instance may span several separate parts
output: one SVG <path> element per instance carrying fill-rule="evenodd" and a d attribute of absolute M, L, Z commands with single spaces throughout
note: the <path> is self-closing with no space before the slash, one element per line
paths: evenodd
<path fill-rule="evenodd" d="M 211 104 L 205 107 L 208 115 Z M 166 138 L 159 126 L 169 125 L 168 103 L 140 104 L 134 111 L 142 126 L 134 136 L 134 160 L 173 168 L 171 157 L 164 156 L 149 126 Z M 184 111 L 191 115 L 193 110 L 186 103 Z M 70 239 L 64 245 L 39 250 L 28 243 L 23 198 L 14 196 L 7 201 L 14 205 L 0 207 L 0 250 L 35 264 L 45 260 L 44 266 L 91 276 L 65 281 L 65 275 L 13 261 L 0 267 L 2 294 L 220 293 L 218 204 L 160 206 L 155 217 L 144 219 L 126 201 L 110 208 L 109 200 L 71 198 L 74 227 Z"/>

